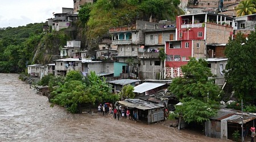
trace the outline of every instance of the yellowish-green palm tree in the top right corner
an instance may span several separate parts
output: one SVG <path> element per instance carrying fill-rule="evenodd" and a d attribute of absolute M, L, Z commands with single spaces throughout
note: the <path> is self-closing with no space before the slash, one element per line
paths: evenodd
<path fill-rule="evenodd" d="M 250 0 L 241 1 L 235 10 L 237 10 L 237 16 L 250 15 L 256 12 L 255 5 Z"/>

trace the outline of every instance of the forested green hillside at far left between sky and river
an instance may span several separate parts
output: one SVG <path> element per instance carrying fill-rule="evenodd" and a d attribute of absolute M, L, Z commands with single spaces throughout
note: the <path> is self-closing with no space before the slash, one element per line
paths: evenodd
<path fill-rule="evenodd" d="M 0 72 L 20 72 L 26 68 L 27 59 L 34 49 L 26 41 L 42 32 L 42 23 L 27 24 L 17 28 L 0 28 Z M 26 50 L 24 48 L 30 49 Z M 30 55 L 30 56 L 28 56 Z"/>

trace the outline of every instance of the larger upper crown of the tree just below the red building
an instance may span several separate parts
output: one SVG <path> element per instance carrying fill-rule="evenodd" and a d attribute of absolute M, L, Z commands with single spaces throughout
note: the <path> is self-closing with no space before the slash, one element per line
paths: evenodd
<path fill-rule="evenodd" d="M 220 89 L 213 83 L 213 74 L 207 67 L 207 61 L 192 58 L 187 65 L 181 66 L 181 70 L 184 77 L 175 78 L 168 88 L 177 98 L 192 97 L 205 101 L 217 99 Z"/>

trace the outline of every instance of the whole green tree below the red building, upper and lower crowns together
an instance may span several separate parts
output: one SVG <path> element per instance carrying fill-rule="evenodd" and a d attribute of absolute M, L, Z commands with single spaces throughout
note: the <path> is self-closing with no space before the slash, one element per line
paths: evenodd
<path fill-rule="evenodd" d="M 213 83 L 214 76 L 204 59 L 191 58 L 181 66 L 183 78 L 175 78 L 168 90 L 183 103 L 176 106 L 175 112 L 183 116 L 185 122 L 203 123 L 216 114 L 216 99 L 220 88 Z"/>

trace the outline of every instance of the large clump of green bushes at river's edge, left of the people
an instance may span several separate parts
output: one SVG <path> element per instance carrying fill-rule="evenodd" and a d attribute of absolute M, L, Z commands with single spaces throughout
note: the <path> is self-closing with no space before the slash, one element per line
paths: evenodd
<path fill-rule="evenodd" d="M 49 81 L 52 86 L 50 101 L 64 106 L 72 113 L 78 112 L 77 106 L 83 103 L 94 105 L 102 102 L 115 102 L 117 95 L 111 94 L 111 88 L 105 81 L 101 80 L 95 72 L 90 72 L 86 80 L 82 80 L 79 72 L 68 72 L 65 83 Z M 53 79 L 53 78 L 52 78 Z M 60 78 L 60 80 L 63 80 Z M 53 85 L 58 85 L 54 87 Z"/>

